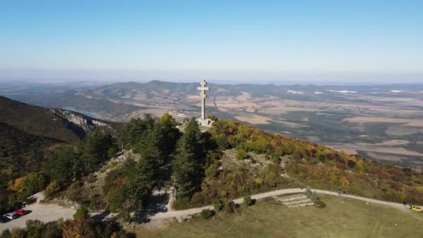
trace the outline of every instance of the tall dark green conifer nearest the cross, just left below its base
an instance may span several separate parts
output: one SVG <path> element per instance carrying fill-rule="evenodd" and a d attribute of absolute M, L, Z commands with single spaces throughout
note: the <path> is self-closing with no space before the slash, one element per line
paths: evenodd
<path fill-rule="evenodd" d="M 189 199 L 200 186 L 205 162 L 205 148 L 200 128 L 192 118 L 186 125 L 184 135 L 177 143 L 177 154 L 173 167 L 173 178 L 177 198 Z"/>

